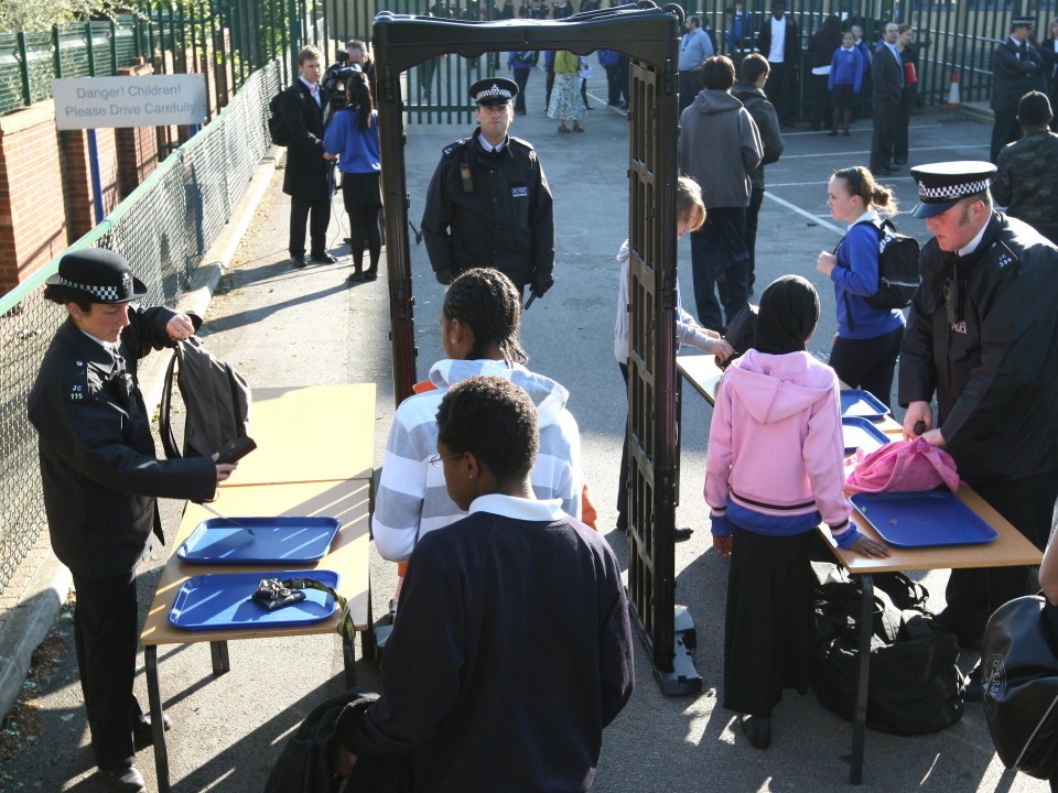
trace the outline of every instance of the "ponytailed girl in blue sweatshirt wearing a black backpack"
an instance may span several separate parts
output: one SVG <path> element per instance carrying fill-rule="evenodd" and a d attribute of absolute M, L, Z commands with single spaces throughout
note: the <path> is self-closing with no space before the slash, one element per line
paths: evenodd
<path fill-rule="evenodd" d="M 886 406 L 904 339 L 904 313 L 875 308 L 866 298 L 878 291 L 879 213 L 896 213 L 896 198 L 861 165 L 835 171 L 827 187 L 834 220 L 849 224 L 836 253 L 823 251 L 816 269 L 834 282 L 838 335 L 830 366 L 849 388 L 862 388 Z"/>

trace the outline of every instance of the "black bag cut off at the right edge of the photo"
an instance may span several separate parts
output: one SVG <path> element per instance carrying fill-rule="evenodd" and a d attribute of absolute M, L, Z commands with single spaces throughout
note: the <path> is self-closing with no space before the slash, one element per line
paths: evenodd
<path fill-rule="evenodd" d="M 995 610 L 981 648 L 984 716 L 1003 764 L 1058 775 L 1058 606 L 1040 596 Z"/>

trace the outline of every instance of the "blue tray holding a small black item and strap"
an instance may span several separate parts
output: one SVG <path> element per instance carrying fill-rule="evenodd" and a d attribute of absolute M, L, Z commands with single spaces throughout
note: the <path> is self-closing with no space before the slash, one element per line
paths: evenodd
<path fill-rule="evenodd" d="M 305 599 L 269 611 L 251 599 L 262 578 L 310 577 L 332 589 L 338 588 L 334 571 L 287 571 L 274 573 L 210 573 L 184 582 L 173 599 L 169 623 L 185 630 L 224 630 L 303 626 L 325 620 L 334 613 L 334 596 L 317 589 L 305 589 Z"/>

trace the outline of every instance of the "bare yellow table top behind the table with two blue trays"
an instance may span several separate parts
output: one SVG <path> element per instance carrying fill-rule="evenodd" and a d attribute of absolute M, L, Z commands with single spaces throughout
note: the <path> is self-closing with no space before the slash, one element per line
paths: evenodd
<path fill-rule="evenodd" d="M 257 448 L 222 489 L 370 479 L 375 383 L 253 389 L 250 437 Z"/>

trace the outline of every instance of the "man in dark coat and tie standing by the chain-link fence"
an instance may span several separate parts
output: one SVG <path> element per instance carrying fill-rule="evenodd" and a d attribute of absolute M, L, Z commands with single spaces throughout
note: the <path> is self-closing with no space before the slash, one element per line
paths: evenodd
<path fill-rule="evenodd" d="M 287 149 L 283 193 L 290 196 L 290 265 L 305 267 L 305 222 L 312 242 L 310 257 L 321 264 L 337 261 L 327 253 L 327 225 L 331 221 L 333 154 L 323 150 L 323 128 L 327 120 L 328 95 L 320 86 L 323 75 L 321 53 L 306 46 L 298 53 L 301 76 L 283 94 L 281 111 L 291 143 Z"/>

